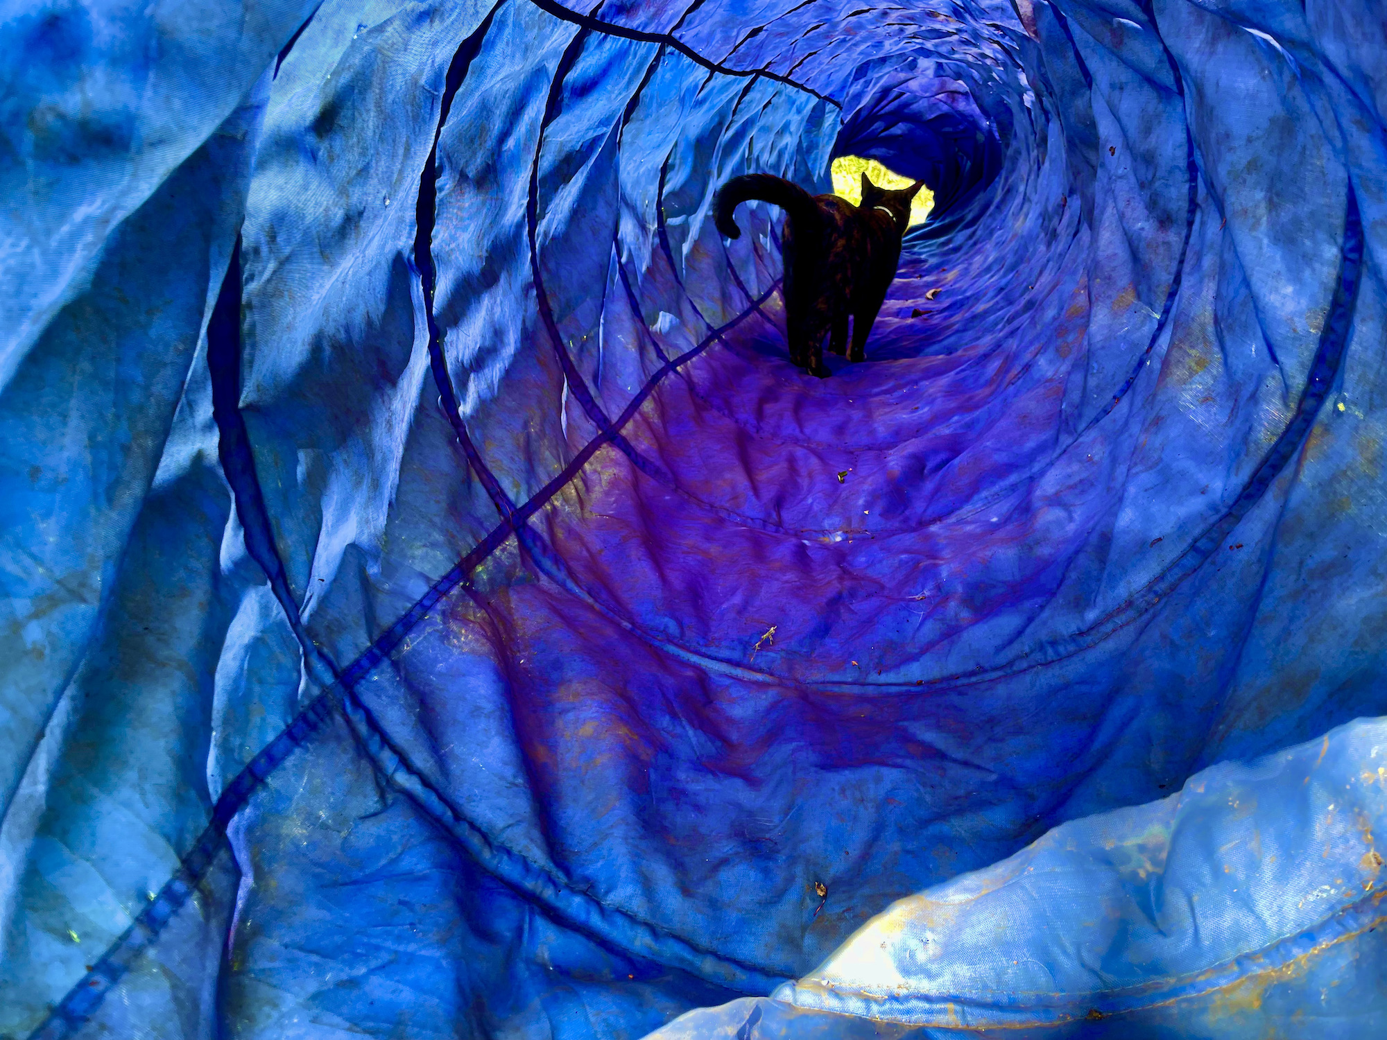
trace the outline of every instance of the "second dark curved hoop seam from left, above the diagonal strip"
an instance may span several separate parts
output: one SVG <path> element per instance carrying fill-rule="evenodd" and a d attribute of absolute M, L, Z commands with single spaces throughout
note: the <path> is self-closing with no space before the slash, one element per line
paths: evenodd
<path fill-rule="evenodd" d="M 423 172 L 419 175 L 419 198 L 415 204 L 413 266 L 419 272 L 419 286 L 424 298 L 424 322 L 429 326 L 429 367 L 433 370 L 434 385 L 438 388 L 442 412 L 448 417 L 448 424 L 452 427 L 458 444 L 462 447 L 467 465 L 477 474 L 477 480 L 481 481 L 497 512 L 501 513 L 501 519 L 508 524 L 513 524 L 515 502 L 510 501 L 510 496 L 501 487 L 501 481 L 497 480 L 495 474 L 483 462 L 481 453 L 467 435 L 462 413 L 458 410 L 458 394 L 452 384 L 452 376 L 448 372 L 448 361 L 444 358 L 442 333 L 434 316 L 437 268 L 433 261 L 433 232 L 438 219 L 438 140 L 442 137 L 442 128 L 448 122 L 452 100 L 462 87 L 462 80 L 466 79 L 473 60 L 481 51 L 487 33 L 491 32 L 491 22 L 503 3 L 505 0 L 497 0 L 495 6 L 487 12 L 487 17 L 481 19 L 481 24 L 458 44 L 458 50 L 452 55 L 452 62 L 448 65 L 442 101 L 438 105 L 438 125 L 434 129 L 433 147 L 429 150 L 429 158 L 424 161 Z"/>

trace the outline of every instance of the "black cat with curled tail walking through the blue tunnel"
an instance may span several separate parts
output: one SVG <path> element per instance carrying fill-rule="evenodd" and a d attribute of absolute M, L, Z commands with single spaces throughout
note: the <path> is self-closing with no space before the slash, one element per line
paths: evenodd
<path fill-rule="evenodd" d="M 924 186 L 917 180 L 896 191 L 877 187 L 863 173 L 863 201 L 853 205 L 838 196 L 811 196 L 799 184 L 771 173 L 732 177 L 717 191 L 714 222 L 728 239 L 742 232 L 732 211 L 757 198 L 786 214 L 785 324 L 789 359 L 824 377 L 824 334 L 828 349 L 843 354 L 847 318 L 853 319 L 849 361 L 863 361 L 867 333 L 886 298 L 900 262 L 900 239 L 910 223 L 910 201 Z"/>

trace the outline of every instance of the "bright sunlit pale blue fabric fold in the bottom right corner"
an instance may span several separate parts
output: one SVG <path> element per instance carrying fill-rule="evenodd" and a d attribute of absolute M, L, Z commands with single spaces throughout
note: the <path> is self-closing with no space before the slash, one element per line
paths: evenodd
<path fill-rule="evenodd" d="M 1359 720 L 1057 826 L 651 1037 L 1381 1036 L 1384 829 L 1387 720 Z"/>

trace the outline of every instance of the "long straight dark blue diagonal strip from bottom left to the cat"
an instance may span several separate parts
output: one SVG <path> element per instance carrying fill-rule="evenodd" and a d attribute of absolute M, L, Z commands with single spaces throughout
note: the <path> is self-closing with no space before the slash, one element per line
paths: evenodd
<path fill-rule="evenodd" d="M 239 283 L 237 283 L 239 284 Z M 775 291 L 775 286 L 767 290 L 766 295 L 757 302 L 764 302 L 766 298 Z M 741 324 L 748 316 L 755 312 L 753 306 L 746 308 L 736 318 L 730 320 L 727 324 L 721 326 L 716 331 L 710 333 L 702 343 L 696 347 L 681 354 L 670 362 L 662 365 L 641 391 L 631 398 L 630 404 L 617 417 L 617 428 L 626 426 L 635 416 L 637 410 L 649 399 L 651 394 L 659 383 L 675 372 L 681 366 L 694 361 L 698 355 L 706 351 L 713 343 L 723 338 L 728 331 Z M 239 334 L 239 331 L 237 331 Z M 528 502 L 516 510 L 515 521 L 517 524 L 524 524 L 540 512 L 548 502 L 559 494 L 559 491 L 571 481 L 578 471 L 587 466 L 588 460 L 596 455 L 596 452 L 610 440 L 608 434 L 602 434 L 589 441 L 583 451 L 580 451 L 573 460 L 559 473 L 553 480 L 545 484 Z M 419 600 L 399 617 L 388 630 L 386 630 L 374 642 L 354 660 L 347 668 L 343 670 L 340 679 L 319 693 L 313 700 L 300 711 L 290 724 L 275 736 L 261 752 L 247 763 L 247 765 L 236 775 L 236 778 L 226 785 L 221 796 L 216 799 L 216 804 L 212 808 L 212 818 L 204 828 L 198 840 L 180 861 L 179 868 L 175 871 L 173 876 L 160 889 L 160 893 L 150 901 L 150 904 L 140 912 L 135 922 L 108 947 L 107 953 L 97 961 L 92 971 L 86 972 L 78 983 L 68 990 L 58 1005 L 49 1014 L 49 1016 L 39 1025 L 37 1029 L 31 1033 L 31 1040 L 64 1040 L 69 1037 L 74 1032 L 82 1028 L 82 1025 L 96 1012 L 105 994 L 121 980 L 121 978 L 130 969 L 130 967 L 139 960 L 140 954 L 144 953 L 154 942 L 158 939 L 160 933 L 164 930 L 164 925 L 172 919 L 172 917 L 182 908 L 187 901 L 189 896 L 193 894 L 198 882 L 207 874 L 216 854 L 222 851 L 225 846 L 226 828 L 237 813 L 245 806 L 251 795 L 259 786 L 261 781 L 269 777 L 280 764 L 288 759 L 298 747 L 301 747 L 331 716 L 333 707 L 337 706 L 341 692 L 350 692 L 356 684 L 359 684 L 366 675 L 376 668 L 409 634 L 409 631 L 419 624 L 442 599 L 452 593 L 467 577 L 487 560 L 497 549 L 499 549 L 512 535 L 512 528 L 509 524 L 501 524 L 495 527 L 485 538 L 483 538 L 452 570 L 438 578 L 429 591 L 419 598 Z M 356 711 L 366 714 L 370 728 L 377 732 L 377 739 L 388 746 L 388 740 L 380 734 L 380 725 L 369 717 L 362 704 L 347 702 L 344 697 L 344 711 Z M 394 749 L 391 753 L 402 760 Z M 682 940 L 681 940 L 682 942 Z M 720 958 L 724 960 L 725 958 Z M 727 964 L 734 964 L 725 961 Z M 745 968 L 743 965 L 735 965 L 736 968 Z M 756 969 L 750 969 L 756 971 Z M 770 978 L 770 976 L 767 976 Z M 774 980 L 778 980 L 775 976 Z"/>

